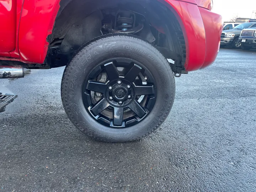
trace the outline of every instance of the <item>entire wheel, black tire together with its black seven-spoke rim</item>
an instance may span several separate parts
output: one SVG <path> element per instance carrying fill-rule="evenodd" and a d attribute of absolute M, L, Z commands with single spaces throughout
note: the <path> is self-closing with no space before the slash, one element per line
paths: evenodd
<path fill-rule="evenodd" d="M 112 58 L 114 59 L 113 62 Z M 116 72 L 110 75 L 110 72 L 114 71 L 112 70 L 113 66 L 117 69 L 117 64 L 123 64 L 126 61 L 130 61 L 130 59 L 132 59 L 135 64 L 133 62 L 130 63 L 129 67 L 131 66 L 131 68 L 127 73 L 125 72 L 126 75 L 123 76 L 124 79 L 122 79 L 120 75 L 116 77 L 114 75 Z M 126 67 L 126 65 L 124 66 Z M 130 77 L 131 74 L 135 74 L 129 73 L 133 70 L 134 66 L 137 68 L 142 66 L 139 68 L 139 75 L 147 73 L 149 74 L 147 78 L 145 77 L 145 79 L 148 79 L 147 82 L 154 82 L 152 84 L 148 83 L 147 85 L 141 85 L 153 89 L 152 91 L 150 88 L 149 91 L 152 95 L 145 94 L 142 101 L 140 101 L 141 103 L 139 103 L 137 99 L 142 96 L 137 96 L 137 94 L 141 95 L 142 92 L 139 93 L 138 90 L 142 91 L 142 89 L 138 88 L 136 83 L 144 81 L 143 78 L 139 78 L 138 75 L 135 79 L 136 83 L 131 84 L 131 90 L 128 90 L 128 85 L 125 84 L 126 79 L 129 79 L 128 77 Z M 111 70 L 109 70 L 110 67 Z M 125 67 L 123 69 L 126 69 Z M 108 81 L 106 80 L 106 83 L 102 83 L 102 81 L 100 82 L 101 85 L 104 84 L 102 85 L 104 86 L 104 89 L 96 89 L 91 85 L 95 85 L 96 83 L 98 85 L 99 82 L 90 79 L 93 78 L 92 74 L 97 74 L 101 70 L 106 71 Z M 97 73 L 95 71 L 97 71 Z M 97 78 L 99 78 L 99 76 L 102 78 L 104 73 L 105 72 L 100 72 Z M 119 71 L 118 73 L 120 74 L 121 72 Z M 117 85 L 119 83 L 118 79 L 122 80 L 120 85 Z M 115 84 L 110 90 L 110 86 L 108 85 L 111 83 Z M 103 90 L 106 88 L 105 84 L 107 84 L 108 89 L 104 93 Z M 127 111 L 125 111 L 127 107 L 123 108 L 123 114 L 134 114 L 134 116 L 129 117 L 132 118 L 132 120 L 129 120 L 129 118 L 125 119 L 124 115 L 120 116 L 120 113 L 118 113 L 119 116 L 118 114 L 116 116 L 111 115 L 110 118 L 112 117 L 113 119 L 110 119 L 109 122 L 107 121 L 107 118 L 105 118 L 105 113 L 108 113 L 109 110 L 113 110 L 112 112 L 114 112 L 116 108 L 117 110 L 120 110 L 120 108 L 122 109 L 123 107 L 117 107 L 116 101 L 114 101 L 115 99 L 119 99 L 119 96 L 121 98 L 122 95 L 122 91 L 120 90 L 116 92 L 113 90 L 113 92 L 111 92 L 112 89 L 117 89 L 115 86 L 126 86 L 124 88 L 122 87 L 124 92 L 127 90 L 132 92 L 132 89 L 134 90 L 133 99 L 129 101 L 127 98 L 123 101 L 123 105 L 125 102 L 130 102 L 130 104 L 127 104 L 129 106 Z M 103 92 L 100 100 L 97 101 L 98 104 L 93 103 L 92 101 L 95 99 L 96 91 L 93 94 L 90 89 L 96 89 Z M 119 94 L 119 92 L 121 93 Z M 108 94 L 116 94 L 113 95 L 114 100 L 113 98 L 110 100 Z M 175 79 L 166 58 L 151 44 L 135 36 L 111 34 L 98 37 L 79 49 L 79 52 L 77 52 L 64 70 L 61 95 L 66 114 L 71 122 L 83 133 L 104 142 L 130 142 L 149 135 L 164 122 L 174 102 Z M 143 114 L 144 116 L 139 117 L 138 114 L 141 114 L 140 112 L 142 110 L 140 109 L 138 112 L 130 106 L 134 105 L 132 103 L 137 102 L 143 108 L 142 102 L 144 98 L 146 98 L 146 104 L 144 105 L 145 115 Z M 103 106 L 99 103 L 103 103 L 103 101 L 107 101 L 107 104 L 105 104 L 110 106 L 97 115 L 98 106 Z M 154 103 L 154 106 L 152 103 Z M 113 107 L 111 105 L 113 105 Z M 94 114 L 93 110 L 95 108 L 96 112 Z M 133 108 L 136 113 L 131 110 L 131 108 Z M 102 108 L 100 110 L 102 110 Z M 122 121 L 120 120 L 120 117 L 122 117 Z M 115 127 L 114 122 L 117 122 L 116 125 L 118 124 L 119 127 Z"/>

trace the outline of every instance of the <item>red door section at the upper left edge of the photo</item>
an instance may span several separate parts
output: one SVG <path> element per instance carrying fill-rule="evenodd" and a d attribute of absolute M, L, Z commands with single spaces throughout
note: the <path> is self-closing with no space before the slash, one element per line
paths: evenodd
<path fill-rule="evenodd" d="M 0 52 L 15 49 L 16 9 L 16 0 L 0 0 Z"/>

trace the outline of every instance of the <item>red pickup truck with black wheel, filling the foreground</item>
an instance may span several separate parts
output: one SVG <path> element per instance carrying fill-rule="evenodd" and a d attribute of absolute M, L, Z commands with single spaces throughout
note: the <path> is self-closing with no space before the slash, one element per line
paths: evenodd
<path fill-rule="evenodd" d="M 66 66 L 64 109 L 87 135 L 128 142 L 168 116 L 175 80 L 217 57 L 212 0 L 0 0 L 0 78 Z"/>

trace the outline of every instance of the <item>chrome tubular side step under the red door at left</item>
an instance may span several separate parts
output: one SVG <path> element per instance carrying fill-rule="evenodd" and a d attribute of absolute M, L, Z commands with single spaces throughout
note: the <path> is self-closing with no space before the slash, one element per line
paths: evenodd
<path fill-rule="evenodd" d="M 23 78 L 24 69 L 21 65 L 15 66 L 1 66 L 0 65 L 0 79 Z"/>

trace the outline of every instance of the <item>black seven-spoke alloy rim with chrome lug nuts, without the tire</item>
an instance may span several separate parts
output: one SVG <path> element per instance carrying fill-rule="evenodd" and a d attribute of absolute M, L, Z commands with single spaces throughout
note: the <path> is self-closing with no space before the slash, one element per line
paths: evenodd
<path fill-rule="evenodd" d="M 102 74 L 106 74 L 107 79 L 96 81 Z M 109 59 L 92 69 L 88 76 L 83 88 L 84 105 L 102 125 L 133 126 L 155 105 L 155 80 L 149 70 L 135 60 Z"/>

